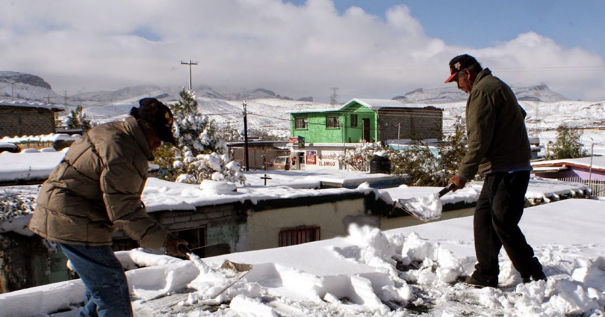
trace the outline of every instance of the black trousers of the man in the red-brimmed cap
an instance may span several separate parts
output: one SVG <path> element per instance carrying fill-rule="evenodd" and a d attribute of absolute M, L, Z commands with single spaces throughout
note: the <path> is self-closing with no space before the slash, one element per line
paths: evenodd
<path fill-rule="evenodd" d="M 497 286 L 498 254 L 502 247 L 522 278 L 542 272 L 534 249 L 518 226 L 528 184 L 529 171 L 485 176 L 473 222 L 478 261 L 473 277 L 477 280 Z"/>

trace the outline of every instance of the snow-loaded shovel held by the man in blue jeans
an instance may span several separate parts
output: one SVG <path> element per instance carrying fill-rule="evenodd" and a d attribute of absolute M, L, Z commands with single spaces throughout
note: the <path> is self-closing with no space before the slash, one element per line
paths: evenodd
<path fill-rule="evenodd" d="M 251 264 L 235 263 L 226 259 L 218 269 L 213 269 L 187 246 L 178 245 L 178 251 L 186 254 L 200 270 L 200 275 L 189 286 L 198 289 L 198 293 L 204 298 L 216 298 L 252 271 Z"/>

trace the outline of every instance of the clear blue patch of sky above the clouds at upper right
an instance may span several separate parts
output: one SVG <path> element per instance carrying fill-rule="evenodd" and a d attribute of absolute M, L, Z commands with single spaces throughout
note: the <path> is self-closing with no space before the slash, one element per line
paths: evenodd
<path fill-rule="evenodd" d="M 289 1 L 301 5 L 306 0 Z M 605 57 L 603 0 L 334 0 L 339 13 L 356 6 L 384 19 L 404 4 L 430 37 L 477 48 L 534 31 L 565 46 L 580 46 Z"/>

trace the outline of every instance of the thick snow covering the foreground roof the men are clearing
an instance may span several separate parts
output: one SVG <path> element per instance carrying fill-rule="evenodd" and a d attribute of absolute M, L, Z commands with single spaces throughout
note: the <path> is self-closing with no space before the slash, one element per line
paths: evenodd
<path fill-rule="evenodd" d="M 191 261 L 119 257 L 127 267 L 149 266 L 127 272 L 137 316 L 602 316 L 604 221 L 603 200 L 527 208 L 520 225 L 549 280 L 520 284 L 502 253 L 498 289 L 456 283 L 473 271 L 471 217 L 386 232 L 352 226 L 348 237 L 204 258 L 212 267 L 224 258 L 253 265 L 214 299 L 199 281 L 221 280 Z M 0 315 L 76 316 L 82 294 L 78 280 L 1 294 Z"/>

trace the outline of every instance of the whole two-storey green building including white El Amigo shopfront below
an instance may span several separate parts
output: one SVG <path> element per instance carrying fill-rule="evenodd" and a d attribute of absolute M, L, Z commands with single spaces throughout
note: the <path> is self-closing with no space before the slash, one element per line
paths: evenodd
<path fill-rule="evenodd" d="M 353 99 L 333 109 L 290 112 L 293 169 L 340 169 L 338 155 L 360 142 L 440 139 L 443 109 L 388 99 Z"/>

